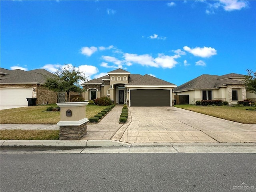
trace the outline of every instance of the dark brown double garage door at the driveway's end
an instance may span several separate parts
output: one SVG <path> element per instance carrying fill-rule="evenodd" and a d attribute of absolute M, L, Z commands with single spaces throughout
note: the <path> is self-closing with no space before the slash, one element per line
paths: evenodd
<path fill-rule="evenodd" d="M 136 89 L 130 94 L 131 106 L 170 106 L 170 90 Z"/>

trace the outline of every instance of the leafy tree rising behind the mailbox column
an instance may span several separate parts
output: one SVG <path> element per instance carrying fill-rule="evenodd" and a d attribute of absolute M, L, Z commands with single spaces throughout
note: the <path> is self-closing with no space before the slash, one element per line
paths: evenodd
<path fill-rule="evenodd" d="M 66 92 L 67 100 L 70 102 L 70 92 L 83 92 L 82 88 L 80 88 L 80 82 L 87 80 L 83 72 L 75 66 L 66 64 L 64 67 L 58 68 L 58 70 L 54 72 L 53 77 L 46 78 L 44 86 L 54 92 Z"/>

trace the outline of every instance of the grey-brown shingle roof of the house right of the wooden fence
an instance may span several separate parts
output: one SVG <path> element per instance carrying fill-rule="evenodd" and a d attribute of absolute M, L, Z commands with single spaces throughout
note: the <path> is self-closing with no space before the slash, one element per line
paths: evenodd
<path fill-rule="evenodd" d="M 244 78 L 244 75 L 230 73 L 222 76 L 218 75 L 201 75 L 194 78 L 176 88 L 174 92 L 182 92 L 189 90 L 202 90 L 202 89 L 218 89 L 220 87 L 226 87 L 229 84 L 238 85 L 244 84 L 242 81 L 234 80 L 232 78 Z"/>

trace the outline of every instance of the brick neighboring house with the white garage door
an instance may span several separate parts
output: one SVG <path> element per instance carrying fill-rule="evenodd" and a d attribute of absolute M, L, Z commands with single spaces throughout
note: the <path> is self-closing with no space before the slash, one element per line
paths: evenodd
<path fill-rule="evenodd" d="M 44 69 L 23 71 L 0 68 L 0 108 L 28 106 L 26 98 L 36 98 L 36 104 L 56 103 L 57 93 L 45 88 L 44 82 L 53 74 Z"/>

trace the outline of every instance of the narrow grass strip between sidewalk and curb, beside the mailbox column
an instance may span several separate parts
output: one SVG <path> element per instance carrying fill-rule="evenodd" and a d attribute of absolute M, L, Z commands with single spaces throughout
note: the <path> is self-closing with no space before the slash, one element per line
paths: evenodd
<path fill-rule="evenodd" d="M 58 140 L 59 130 L 1 130 L 1 140 Z"/>

